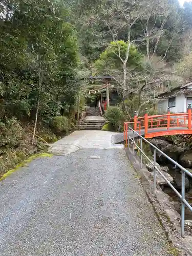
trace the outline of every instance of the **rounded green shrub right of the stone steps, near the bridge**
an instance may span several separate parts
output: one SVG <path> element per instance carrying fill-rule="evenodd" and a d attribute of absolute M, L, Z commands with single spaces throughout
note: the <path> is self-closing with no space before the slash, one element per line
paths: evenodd
<path fill-rule="evenodd" d="M 124 120 L 124 114 L 117 106 L 110 106 L 106 112 L 105 117 L 108 120 L 110 129 L 118 131 Z"/>

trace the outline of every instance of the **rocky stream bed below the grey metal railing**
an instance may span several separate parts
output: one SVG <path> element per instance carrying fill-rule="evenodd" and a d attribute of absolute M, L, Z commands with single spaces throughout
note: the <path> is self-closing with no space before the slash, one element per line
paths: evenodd
<path fill-rule="evenodd" d="M 170 158 L 174 159 L 180 165 L 185 167 L 192 173 L 192 149 L 189 141 L 183 136 L 167 136 L 149 139 L 149 141 L 157 146 L 163 153 Z M 153 156 L 153 147 L 147 147 L 148 154 Z M 145 149 L 146 152 L 146 149 Z M 162 170 L 165 177 L 174 185 L 175 188 L 181 193 L 181 171 L 180 169 L 165 158 L 159 152 L 156 152 L 156 164 Z M 150 172 L 153 172 L 153 166 L 146 163 L 146 167 Z M 152 173 L 153 176 L 153 173 Z M 170 200 L 174 201 L 175 209 L 181 214 L 181 202 L 172 188 L 157 174 L 157 182 L 163 189 L 164 193 L 170 196 Z M 185 199 L 192 204 L 192 178 L 185 175 Z M 191 220 L 192 212 L 185 208 L 185 220 Z"/>

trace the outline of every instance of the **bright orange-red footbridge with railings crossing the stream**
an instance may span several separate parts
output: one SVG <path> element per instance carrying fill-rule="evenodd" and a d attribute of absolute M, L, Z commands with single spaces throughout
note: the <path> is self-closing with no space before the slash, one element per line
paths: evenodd
<path fill-rule="evenodd" d="M 135 132 L 144 135 L 145 138 L 153 138 L 166 135 L 192 134 L 191 129 L 191 104 L 188 105 L 187 113 L 170 113 L 148 116 L 147 109 L 145 115 L 134 116 L 134 122 L 124 123 L 124 141 L 127 144 L 129 126 Z M 137 137 L 137 136 L 135 136 Z"/>

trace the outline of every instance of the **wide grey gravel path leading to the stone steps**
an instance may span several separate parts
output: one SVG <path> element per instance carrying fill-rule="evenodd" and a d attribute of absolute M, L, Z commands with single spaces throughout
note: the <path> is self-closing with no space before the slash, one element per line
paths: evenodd
<path fill-rule="evenodd" d="M 71 141 L 76 152 L 35 159 L 0 183 L 1 256 L 168 255 L 124 150 L 103 149 L 106 132 L 96 148 L 94 132 L 57 142 Z"/>

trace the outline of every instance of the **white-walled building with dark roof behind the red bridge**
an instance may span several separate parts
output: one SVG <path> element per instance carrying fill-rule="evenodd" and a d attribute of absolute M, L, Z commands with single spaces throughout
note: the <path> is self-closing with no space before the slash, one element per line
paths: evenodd
<path fill-rule="evenodd" d="M 157 110 L 158 113 L 166 113 L 167 108 L 170 108 L 170 112 L 173 113 L 187 112 L 189 103 L 192 105 L 192 81 L 159 94 Z"/>

